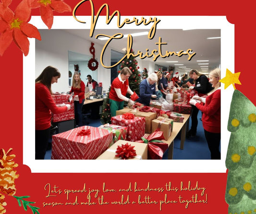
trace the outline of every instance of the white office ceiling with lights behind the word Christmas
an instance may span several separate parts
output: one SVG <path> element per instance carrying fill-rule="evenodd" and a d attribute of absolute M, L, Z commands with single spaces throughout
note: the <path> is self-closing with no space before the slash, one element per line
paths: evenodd
<path fill-rule="evenodd" d="M 89 37 L 89 30 L 78 29 L 78 30 L 67 30 L 64 31 L 77 35 L 81 38 L 87 39 L 95 44 L 105 45 L 107 40 L 99 40 L 96 39 L 95 36 L 97 34 L 106 34 L 106 35 L 114 35 L 117 33 L 122 34 L 133 34 L 142 32 L 145 30 L 137 30 L 137 29 L 110 29 L 110 30 L 95 30 L 93 37 Z M 165 55 L 166 51 L 170 52 L 179 52 L 183 50 L 184 52 L 187 49 L 192 49 L 195 56 L 192 57 L 190 61 L 188 61 L 188 55 L 183 56 L 169 56 L 166 58 L 158 57 L 157 60 L 154 62 L 160 66 L 164 67 L 186 67 L 190 69 L 197 69 L 198 71 L 205 73 L 207 71 L 203 71 L 201 66 L 208 66 L 209 71 L 213 68 L 219 68 L 220 66 L 220 39 L 207 39 L 208 37 L 219 37 L 220 36 L 220 29 L 195 29 L 195 30 L 186 30 L 183 31 L 182 29 L 164 29 L 164 30 L 157 30 L 156 34 L 153 39 L 148 39 L 147 35 L 142 36 L 134 36 L 133 37 L 133 44 L 132 48 L 134 50 L 134 54 L 137 51 L 142 52 L 144 55 L 146 54 L 146 48 L 148 49 L 148 54 L 151 54 L 151 51 L 156 49 L 158 50 L 158 38 L 161 37 L 162 43 L 167 43 L 167 45 L 161 46 L 162 54 Z M 125 54 L 125 51 L 122 48 L 127 47 L 127 38 L 122 39 L 115 39 L 110 42 L 108 48 L 113 50 L 122 52 Z M 120 56 L 112 56 L 119 57 Z M 138 57 L 137 57 L 138 58 Z M 153 62 L 153 57 L 146 57 L 143 60 L 149 60 Z M 197 60 L 209 60 L 208 62 L 197 62 Z M 168 61 L 178 61 L 175 63 L 171 63 Z M 208 65 L 198 65 L 199 63 L 209 63 Z M 175 66 L 174 64 L 183 64 L 182 66 Z M 182 69 L 183 68 L 179 68 Z M 184 70 L 188 71 L 188 70 Z"/>

